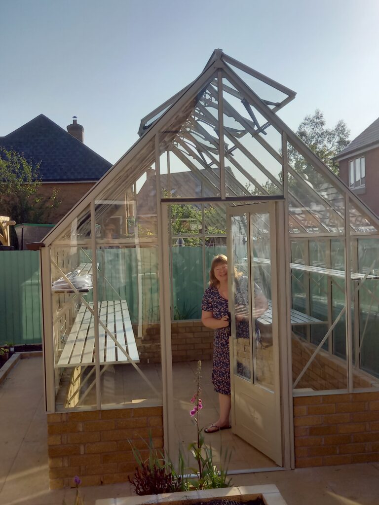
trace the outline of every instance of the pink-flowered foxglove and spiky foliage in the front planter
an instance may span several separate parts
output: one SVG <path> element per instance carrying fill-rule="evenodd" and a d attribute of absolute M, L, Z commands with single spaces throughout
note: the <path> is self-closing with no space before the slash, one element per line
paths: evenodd
<path fill-rule="evenodd" d="M 190 415 L 197 425 L 197 441 L 188 446 L 188 450 L 191 451 L 197 464 L 196 468 L 191 468 L 195 477 L 184 474 L 184 457 L 180 449 L 178 458 L 179 471 L 177 472 L 173 463 L 165 457 L 163 451 L 154 447 L 151 437 L 148 444 L 149 458 L 145 461 L 141 458 L 139 450 L 129 440 L 138 467 L 133 478 L 128 477 L 128 480 L 132 487 L 134 487 L 136 494 L 146 495 L 196 489 L 213 489 L 228 487 L 231 484 L 231 481 L 227 480 L 226 470 L 218 470 L 213 464 L 212 447 L 208 447 L 205 444 L 202 434 L 203 429 L 200 428 L 200 411 L 203 408 L 203 402 L 200 398 L 201 361 L 198 362 L 195 380 L 197 390 L 191 398 L 193 409 Z M 224 463 L 225 461 L 226 458 L 224 458 Z"/>

